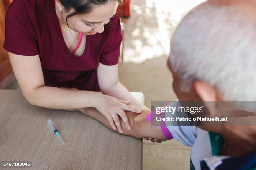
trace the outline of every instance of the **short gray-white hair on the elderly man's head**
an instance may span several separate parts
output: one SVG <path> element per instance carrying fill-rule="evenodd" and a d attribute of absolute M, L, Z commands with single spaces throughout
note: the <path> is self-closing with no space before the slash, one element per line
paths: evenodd
<path fill-rule="evenodd" d="M 210 0 L 194 8 L 172 36 L 170 59 L 183 91 L 202 80 L 224 100 L 256 100 L 256 1 Z"/>

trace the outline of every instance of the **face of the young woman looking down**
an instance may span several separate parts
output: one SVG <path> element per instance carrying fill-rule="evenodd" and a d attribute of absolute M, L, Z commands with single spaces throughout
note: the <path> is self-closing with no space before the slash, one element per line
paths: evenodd
<path fill-rule="evenodd" d="M 102 33 L 104 31 L 104 25 L 110 22 L 110 19 L 115 16 L 118 7 L 118 2 L 110 0 L 104 5 L 95 5 L 92 11 L 87 14 L 78 14 L 67 18 L 69 28 L 81 32 L 86 35 L 94 35 L 96 33 Z M 74 10 L 70 10 L 68 13 L 64 13 L 63 17 Z"/>

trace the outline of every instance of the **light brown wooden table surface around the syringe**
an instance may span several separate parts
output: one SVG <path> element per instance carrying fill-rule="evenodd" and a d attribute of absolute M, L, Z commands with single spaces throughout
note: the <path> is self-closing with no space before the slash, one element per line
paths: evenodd
<path fill-rule="evenodd" d="M 48 119 L 65 145 L 46 125 Z M 0 90 L 0 161 L 32 161 L 32 168 L 1 170 L 139 170 L 142 140 L 80 112 L 30 105 L 20 90 Z"/>

